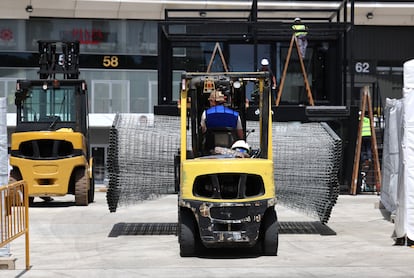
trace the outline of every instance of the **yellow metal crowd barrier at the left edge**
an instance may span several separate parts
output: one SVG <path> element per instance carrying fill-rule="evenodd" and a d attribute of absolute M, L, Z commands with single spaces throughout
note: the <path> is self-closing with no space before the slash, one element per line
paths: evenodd
<path fill-rule="evenodd" d="M 25 181 L 0 186 L 0 247 L 25 235 L 26 269 L 29 258 L 29 197 Z"/>

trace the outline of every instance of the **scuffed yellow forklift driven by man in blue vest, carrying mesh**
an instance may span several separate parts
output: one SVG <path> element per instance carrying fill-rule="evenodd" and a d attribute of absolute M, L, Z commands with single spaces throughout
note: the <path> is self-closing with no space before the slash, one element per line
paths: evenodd
<path fill-rule="evenodd" d="M 246 131 L 245 115 L 249 83 L 259 92 L 260 142 L 253 148 L 246 138 L 252 132 Z M 201 118 L 214 91 L 222 92 L 224 105 L 240 116 L 243 138 L 228 127 L 203 132 Z M 227 247 L 259 247 L 265 255 L 277 255 L 269 73 L 183 73 L 180 111 L 175 159 L 180 255 Z"/>

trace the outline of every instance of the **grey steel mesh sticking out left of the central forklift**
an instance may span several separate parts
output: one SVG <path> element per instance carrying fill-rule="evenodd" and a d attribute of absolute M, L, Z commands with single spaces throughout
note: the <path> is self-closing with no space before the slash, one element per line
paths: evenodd
<path fill-rule="evenodd" d="M 139 114 L 117 114 L 108 147 L 107 203 L 148 200 L 174 190 L 174 154 L 179 149 L 179 118 L 156 116 L 142 123 Z"/>

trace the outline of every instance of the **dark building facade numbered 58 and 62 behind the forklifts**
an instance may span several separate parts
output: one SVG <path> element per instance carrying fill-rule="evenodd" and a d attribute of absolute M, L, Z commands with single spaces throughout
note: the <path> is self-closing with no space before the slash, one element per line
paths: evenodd
<path fill-rule="evenodd" d="M 91 112 L 96 115 L 177 115 L 181 73 L 204 71 L 216 42 L 220 42 L 230 70 L 255 71 L 260 59 L 266 57 L 280 82 L 292 34 L 290 23 L 260 23 L 262 29 L 255 29 L 256 39 L 249 35 L 253 32 L 249 29 L 250 23 L 237 26 L 204 22 L 201 27 L 199 23 L 186 27 L 170 24 L 169 34 L 175 36 L 170 40 L 161 34 L 165 21 L 158 20 L 2 19 L 0 97 L 7 98 L 8 113 L 14 113 L 15 82 L 36 78 L 39 65 L 35 45 L 37 40 L 45 39 L 81 42 L 81 78 L 88 82 Z M 350 26 L 341 22 L 309 22 L 307 25 L 309 46 L 305 64 L 315 104 L 346 108 L 346 113 L 341 111 L 340 115 L 326 120 L 343 137 L 345 153 L 348 152 L 347 164 L 350 164 L 353 142 L 349 138 L 355 135 L 352 130 L 356 124 L 352 111 L 358 109 L 360 88 L 371 86 L 378 116 L 385 98 L 401 97 L 403 63 L 414 58 L 414 27 Z M 204 39 L 186 36 L 188 32 L 204 36 Z M 167 69 L 166 65 L 169 65 Z M 222 70 L 219 59 L 213 64 L 213 70 Z M 292 56 L 281 103 L 286 111 L 306 106 L 300 75 L 298 59 Z M 286 117 L 282 120 L 298 119 Z M 103 179 L 109 127 L 94 127 L 93 122 L 91 126 L 92 148 L 99 154 Z M 12 131 L 13 124 L 10 124 L 9 133 Z M 344 170 L 347 172 L 344 183 L 347 183 L 349 171 Z"/>

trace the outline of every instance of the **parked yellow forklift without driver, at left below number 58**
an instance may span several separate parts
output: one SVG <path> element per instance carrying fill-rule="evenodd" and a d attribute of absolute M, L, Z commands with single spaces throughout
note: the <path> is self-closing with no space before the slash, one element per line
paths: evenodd
<path fill-rule="evenodd" d="M 78 79 L 79 42 L 38 44 L 40 78 L 16 84 L 9 181 L 26 181 L 30 203 L 35 197 L 73 194 L 76 205 L 87 206 L 94 201 L 95 185 L 87 86 Z"/>

